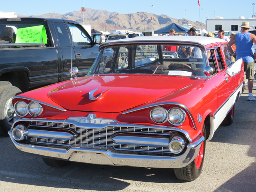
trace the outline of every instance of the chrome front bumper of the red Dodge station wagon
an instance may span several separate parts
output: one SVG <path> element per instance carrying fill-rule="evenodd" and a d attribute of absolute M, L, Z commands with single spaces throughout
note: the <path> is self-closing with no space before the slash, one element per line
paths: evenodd
<path fill-rule="evenodd" d="M 23 144 L 16 142 L 12 138 L 12 130 L 8 132 L 16 148 L 22 152 L 28 152 L 48 158 L 69 160 L 74 162 L 84 162 L 104 165 L 152 167 L 152 168 L 181 168 L 190 164 L 199 153 L 200 146 L 205 140 L 203 136 L 197 136 L 188 143 L 186 151 L 180 156 L 152 156 L 140 154 L 121 154 L 111 148 L 90 148 L 84 144 L 74 144 L 68 150 L 64 148 L 54 148 Z"/>

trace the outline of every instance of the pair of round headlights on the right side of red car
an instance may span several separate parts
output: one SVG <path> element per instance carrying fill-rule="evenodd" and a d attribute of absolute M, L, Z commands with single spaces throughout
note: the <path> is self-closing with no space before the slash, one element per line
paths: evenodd
<path fill-rule="evenodd" d="M 171 108 L 168 111 L 162 107 L 155 107 L 151 110 L 150 117 L 156 123 L 164 123 L 168 120 L 171 124 L 178 126 L 185 121 L 186 113 L 178 107 Z"/>

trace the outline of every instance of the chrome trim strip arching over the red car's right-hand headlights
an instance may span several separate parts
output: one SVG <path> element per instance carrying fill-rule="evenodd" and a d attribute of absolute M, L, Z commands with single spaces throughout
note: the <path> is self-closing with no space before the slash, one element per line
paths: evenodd
<path fill-rule="evenodd" d="M 185 105 L 177 103 L 177 102 L 163 102 L 163 103 L 156 103 L 156 104 L 146 105 L 146 106 L 143 106 L 143 107 L 138 107 L 138 108 L 134 108 L 132 110 L 122 112 L 121 114 L 128 114 L 128 113 L 131 113 L 131 112 L 134 112 L 134 111 L 138 111 L 138 110 L 142 110 L 142 109 L 146 109 L 146 108 L 150 108 L 150 107 L 155 107 L 155 106 L 160 106 L 160 105 L 178 105 L 178 106 L 184 108 L 186 110 L 186 112 L 188 112 L 188 115 L 192 119 L 193 125 L 194 125 L 195 129 L 197 130 L 194 118 L 193 118 L 190 110 Z"/>

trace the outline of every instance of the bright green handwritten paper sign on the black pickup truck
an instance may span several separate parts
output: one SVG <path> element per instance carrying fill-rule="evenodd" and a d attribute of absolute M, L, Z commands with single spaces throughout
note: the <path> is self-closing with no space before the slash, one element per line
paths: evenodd
<path fill-rule="evenodd" d="M 46 30 L 43 25 L 17 29 L 15 43 L 47 43 Z"/>

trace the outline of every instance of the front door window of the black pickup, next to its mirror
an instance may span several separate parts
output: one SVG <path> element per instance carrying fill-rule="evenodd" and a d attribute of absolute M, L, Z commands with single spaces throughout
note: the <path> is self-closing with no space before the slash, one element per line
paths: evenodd
<path fill-rule="evenodd" d="M 82 30 L 80 30 L 74 24 L 68 24 L 68 27 L 72 35 L 74 46 L 90 45 L 91 43 L 90 38 L 88 38 Z"/>

